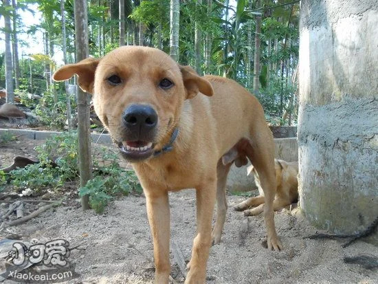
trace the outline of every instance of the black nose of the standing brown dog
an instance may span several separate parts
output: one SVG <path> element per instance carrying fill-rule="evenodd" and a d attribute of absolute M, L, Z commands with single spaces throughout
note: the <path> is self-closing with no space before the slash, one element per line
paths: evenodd
<path fill-rule="evenodd" d="M 144 132 L 156 126 L 157 113 L 148 105 L 131 105 L 125 109 L 122 119 L 125 127 Z"/>

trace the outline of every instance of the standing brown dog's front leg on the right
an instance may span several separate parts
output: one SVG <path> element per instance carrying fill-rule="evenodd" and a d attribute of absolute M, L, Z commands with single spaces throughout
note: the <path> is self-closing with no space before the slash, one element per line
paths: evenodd
<path fill-rule="evenodd" d="M 193 241 L 192 258 L 185 283 L 205 283 L 206 264 L 212 243 L 211 223 L 216 196 L 216 174 L 197 189 L 197 236 Z"/>

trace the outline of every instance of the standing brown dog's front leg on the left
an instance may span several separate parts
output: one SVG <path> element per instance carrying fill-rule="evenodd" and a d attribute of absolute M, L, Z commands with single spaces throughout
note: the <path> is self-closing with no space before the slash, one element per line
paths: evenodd
<path fill-rule="evenodd" d="M 169 239 L 170 210 L 168 193 L 153 190 L 146 195 L 147 215 L 153 237 L 153 255 L 155 258 L 155 283 L 168 283 L 170 274 Z"/>

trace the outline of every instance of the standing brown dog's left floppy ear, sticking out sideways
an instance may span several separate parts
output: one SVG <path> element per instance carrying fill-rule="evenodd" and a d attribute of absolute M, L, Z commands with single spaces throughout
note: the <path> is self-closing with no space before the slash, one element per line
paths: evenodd
<path fill-rule="evenodd" d="M 63 81 L 77 74 L 80 88 L 93 94 L 94 74 L 99 62 L 100 59 L 89 57 L 75 64 L 64 65 L 54 73 L 52 78 L 56 81 Z"/>

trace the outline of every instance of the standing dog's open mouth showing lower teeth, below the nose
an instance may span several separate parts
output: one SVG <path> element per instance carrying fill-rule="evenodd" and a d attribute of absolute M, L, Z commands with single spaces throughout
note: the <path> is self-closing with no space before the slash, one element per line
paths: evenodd
<path fill-rule="evenodd" d="M 144 160 L 153 154 L 153 143 L 146 141 L 124 141 L 118 143 L 121 154 L 126 160 Z"/>

